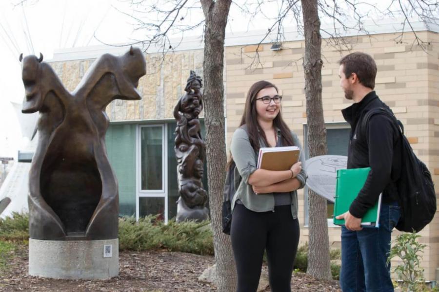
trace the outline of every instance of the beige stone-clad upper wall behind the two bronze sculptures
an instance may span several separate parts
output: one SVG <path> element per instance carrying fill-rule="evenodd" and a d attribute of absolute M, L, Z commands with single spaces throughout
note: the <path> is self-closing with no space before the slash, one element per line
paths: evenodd
<path fill-rule="evenodd" d="M 190 70 L 202 77 L 203 52 L 183 51 L 160 55 L 146 55 L 146 75 L 139 80 L 142 100 L 115 100 L 106 111 L 111 121 L 173 119 L 172 111 L 184 94 Z M 94 60 L 53 62 L 50 65 L 68 91 L 73 91 Z M 202 113 L 201 113 L 202 116 Z"/>

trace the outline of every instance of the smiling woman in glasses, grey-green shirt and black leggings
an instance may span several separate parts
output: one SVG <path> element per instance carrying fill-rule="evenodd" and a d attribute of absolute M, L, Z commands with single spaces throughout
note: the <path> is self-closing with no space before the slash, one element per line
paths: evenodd
<path fill-rule="evenodd" d="M 297 192 L 305 185 L 300 161 L 289 170 L 257 169 L 260 147 L 298 146 L 299 139 L 280 115 L 282 97 L 267 81 L 252 85 L 240 127 L 230 150 L 241 182 L 232 200 L 231 239 L 238 272 L 238 292 L 256 292 L 267 251 L 273 292 L 291 291 L 293 261 L 299 244 Z"/>

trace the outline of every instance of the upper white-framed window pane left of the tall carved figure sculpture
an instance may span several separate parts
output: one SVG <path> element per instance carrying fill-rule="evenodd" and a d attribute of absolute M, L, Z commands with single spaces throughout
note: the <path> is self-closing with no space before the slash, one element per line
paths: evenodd
<path fill-rule="evenodd" d="M 140 128 L 140 188 L 163 189 L 163 127 Z"/>

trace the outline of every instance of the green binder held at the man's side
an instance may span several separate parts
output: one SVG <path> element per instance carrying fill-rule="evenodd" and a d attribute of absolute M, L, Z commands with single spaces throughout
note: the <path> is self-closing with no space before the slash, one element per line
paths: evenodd
<path fill-rule="evenodd" d="M 344 219 L 337 216 L 349 211 L 352 202 L 357 198 L 359 191 L 366 182 L 370 167 L 337 170 L 337 186 L 334 202 L 334 224 L 344 225 Z M 367 210 L 361 219 L 363 227 L 379 227 L 379 210 L 381 208 L 381 195 L 378 202 Z"/>

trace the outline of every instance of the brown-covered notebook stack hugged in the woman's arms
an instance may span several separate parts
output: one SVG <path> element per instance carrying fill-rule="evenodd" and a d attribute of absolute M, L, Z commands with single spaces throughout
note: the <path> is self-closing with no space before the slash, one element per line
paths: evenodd
<path fill-rule="evenodd" d="M 266 170 L 288 170 L 299 161 L 297 146 L 262 147 L 259 149 L 258 168 Z"/>

